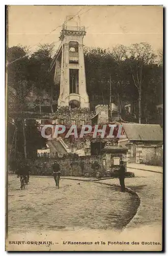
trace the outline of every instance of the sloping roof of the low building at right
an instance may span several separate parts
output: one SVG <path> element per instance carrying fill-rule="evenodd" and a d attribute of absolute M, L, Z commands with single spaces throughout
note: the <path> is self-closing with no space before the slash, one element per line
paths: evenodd
<path fill-rule="evenodd" d="M 129 140 L 163 140 L 163 131 L 159 124 L 122 123 L 122 125 Z"/>

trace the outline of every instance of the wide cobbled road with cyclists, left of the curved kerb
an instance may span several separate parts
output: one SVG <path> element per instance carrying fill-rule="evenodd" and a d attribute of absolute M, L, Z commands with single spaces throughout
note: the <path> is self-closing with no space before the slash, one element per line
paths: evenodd
<path fill-rule="evenodd" d="M 108 185 L 31 177 L 25 190 L 9 176 L 9 232 L 118 229 L 136 212 L 135 197 Z"/>

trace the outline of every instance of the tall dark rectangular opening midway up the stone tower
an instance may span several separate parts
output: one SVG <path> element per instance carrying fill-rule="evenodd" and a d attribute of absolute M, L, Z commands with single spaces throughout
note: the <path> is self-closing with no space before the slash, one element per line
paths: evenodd
<path fill-rule="evenodd" d="M 70 93 L 79 93 L 79 79 L 78 79 L 78 69 L 70 69 L 69 70 L 69 86 Z"/>

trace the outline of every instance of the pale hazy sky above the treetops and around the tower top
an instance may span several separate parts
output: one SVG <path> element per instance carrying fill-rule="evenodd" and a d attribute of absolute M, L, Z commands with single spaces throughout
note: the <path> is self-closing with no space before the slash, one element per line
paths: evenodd
<path fill-rule="evenodd" d="M 35 51 L 38 44 L 54 42 L 67 15 L 79 15 L 85 26 L 83 44 L 112 48 L 149 42 L 155 52 L 163 45 L 161 6 L 9 6 L 8 46 L 23 45 Z"/>

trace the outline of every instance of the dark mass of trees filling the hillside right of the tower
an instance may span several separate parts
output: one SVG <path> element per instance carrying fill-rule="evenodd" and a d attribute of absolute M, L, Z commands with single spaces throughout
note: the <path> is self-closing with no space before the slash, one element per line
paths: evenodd
<path fill-rule="evenodd" d="M 111 101 L 119 106 L 122 119 L 160 122 L 156 105 L 162 103 L 163 71 L 149 44 L 118 45 L 112 50 L 86 48 L 84 53 L 92 109 L 109 103 L 111 78 Z M 131 113 L 124 108 L 128 103 L 132 105 Z"/>

